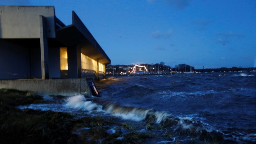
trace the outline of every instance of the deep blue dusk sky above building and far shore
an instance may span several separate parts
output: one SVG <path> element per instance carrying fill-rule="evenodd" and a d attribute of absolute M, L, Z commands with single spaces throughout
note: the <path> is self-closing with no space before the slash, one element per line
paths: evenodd
<path fill-rule="evenodd" d="M 74 10 L 112 64 L 256 67 L 256 0 L 0 0 Z"/>

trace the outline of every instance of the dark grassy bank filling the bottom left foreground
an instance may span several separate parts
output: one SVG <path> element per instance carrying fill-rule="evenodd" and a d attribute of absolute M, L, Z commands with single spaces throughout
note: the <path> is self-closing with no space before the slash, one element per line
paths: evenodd
<path fill-rule="evenodd" d="M 43 103 L 41 96 L 26 91 L 0 89 L 0 141 L 1 144 L 138 144 L 152 138 L 152 134 L 120 129 L 126 124 L 100 116 L 75 119 L 69 113 L 20 110 L 18 105 Z M 115 132 L 107 132 L 110 128 Z"/>

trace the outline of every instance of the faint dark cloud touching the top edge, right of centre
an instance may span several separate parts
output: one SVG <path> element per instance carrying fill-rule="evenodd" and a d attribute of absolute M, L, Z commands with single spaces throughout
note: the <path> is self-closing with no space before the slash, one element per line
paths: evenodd
<path fill-rule="evenodd" d="M 147 0 L 148 3 L 154 2 L 164 2 L 168 3 L 170 6 L 175 6 L 176 8 L 182 10 L 189 5 L 190 0 Z"/>

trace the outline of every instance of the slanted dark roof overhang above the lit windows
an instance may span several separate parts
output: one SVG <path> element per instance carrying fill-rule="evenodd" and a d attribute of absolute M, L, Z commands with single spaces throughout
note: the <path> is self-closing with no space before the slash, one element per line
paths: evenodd
<path fill-rule="evenodd" d="M 84 48 L 81 49 L 83 54 L 92 59 L 98 59 L 102 64 L 111 63 L 110 58 L 74 11 L 72 11 L 72 24 L 65 26 L 62 23 L 60 28 L 56 30 L 56 40 L 66 46 L 78 46 Z"/>

